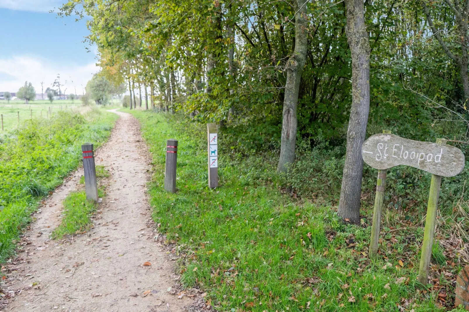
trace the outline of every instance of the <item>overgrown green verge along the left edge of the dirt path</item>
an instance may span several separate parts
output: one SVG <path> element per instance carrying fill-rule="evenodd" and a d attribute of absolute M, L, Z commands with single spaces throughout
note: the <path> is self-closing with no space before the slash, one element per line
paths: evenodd
<path fill-rule="evenodd" d="M 96 109 L 84 115 L 60 111 L 51 119 L 33 119 L 1 139 L 0 262 L 13 254 L 40 199 L 79 165 L 81 144 L 102 144 L 117 118 Z"/>

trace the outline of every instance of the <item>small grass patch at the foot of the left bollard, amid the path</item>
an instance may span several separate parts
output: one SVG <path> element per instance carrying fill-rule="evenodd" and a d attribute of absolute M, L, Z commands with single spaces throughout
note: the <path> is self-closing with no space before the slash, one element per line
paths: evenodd
<path fill-rule="evenodd" d="M 99 197 L 104 196 L 104 192 L 98 190 Z M 92 226 L 92 215 L 96 212 L 98 203 L 86 200 L 86 193 L 72 192 L 63 201 L 64 217 L 61 225 L 52 232 L 53 239 L 62 239 L 65 235 L 83 234 L 90 230 Z"/>

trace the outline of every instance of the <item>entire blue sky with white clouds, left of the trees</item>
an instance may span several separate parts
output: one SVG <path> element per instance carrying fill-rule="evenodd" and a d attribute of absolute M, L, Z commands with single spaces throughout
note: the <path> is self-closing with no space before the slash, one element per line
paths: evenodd
<path fill-rule="evenodd" d="M 45 90 L 60 74 L 62 92 L 83 94 L 99 71 L 96 47 L 83 42 L 86 22 L 49 13 L 62 2 L 0 0 L 0 92 L 17 92 L 28 81 L 41 93 L 41 82 Z"/>

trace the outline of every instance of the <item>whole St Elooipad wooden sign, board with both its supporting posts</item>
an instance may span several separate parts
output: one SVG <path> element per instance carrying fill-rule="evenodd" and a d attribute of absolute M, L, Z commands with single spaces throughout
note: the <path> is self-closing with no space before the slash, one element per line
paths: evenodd
<path fill-rule="evenodd" d="M 364 141 L 362 157 L 365 163 L 379 170 L 373 225 L 371 227 L 370 258 L 376 257 L 378 253 L 379 223 L 383 201 L 381 197 L 384 196 L 386 181 L 383 182 L 383 178 L 386 179 L 386 169 L 406 165 L 432 173 L 418 275 L 418 281 L 426 285 L 435 232 L 441 177 L 453 177 L 461 173 L 465 163 L 464 154 L 460 149 L 446 145 L 445 139 L 437 139 L 436 143 L 430 143 L 408 140 L 386 133 L 372 135 Z M 385 173 L 383 174 L 382 171 L 385 171 Z M 380 202 L 381 205 L 379 205 Z"/>

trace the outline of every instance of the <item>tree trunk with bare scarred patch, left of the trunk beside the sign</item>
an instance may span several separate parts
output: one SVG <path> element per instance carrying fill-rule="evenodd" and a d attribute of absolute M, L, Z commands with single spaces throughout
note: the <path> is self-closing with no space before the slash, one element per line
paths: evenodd
<path fill-rule="evenodd" d="M 308 0 L 296 0 L 295 15 L 295 50 L 287 60 L 287 82 L 285 83 L 285 99 L 283 101 L 282 136 L 278 172 L 286 172 L 288 165 L 295 161 L 295 143 L 298 106 L 298 92 L 301 74 L 306 61 L 308 48 L 308 21 L 306 6 Z"/>

